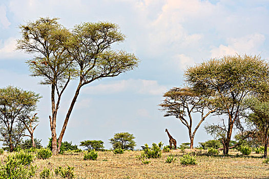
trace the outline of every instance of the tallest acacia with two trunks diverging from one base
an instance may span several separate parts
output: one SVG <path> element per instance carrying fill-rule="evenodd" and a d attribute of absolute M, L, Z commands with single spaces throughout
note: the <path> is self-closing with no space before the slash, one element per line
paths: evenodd
<path fill-rule="evenodd" d="M 46 17 L 21 25 L 22 38 L 17 40 L 17 49 L 34 55 L 33 59 L 27 61 L 31 75 L 43 77 L 44 80 L 40 83 L 51 86 L 52 114 L 49 119 L 53 154 L 60 150 L 81 87 L 97 79 L 115 77 L 133 70 L 139 62 L 134 54 L 111 48 L 113 43 L 125 39 L 116 24 L 82 23 L 67 30 L 57 20 Z M 58 137 L 57 147 L 57 111 L 70 80 L 77 80 L 78 83 Z"/>

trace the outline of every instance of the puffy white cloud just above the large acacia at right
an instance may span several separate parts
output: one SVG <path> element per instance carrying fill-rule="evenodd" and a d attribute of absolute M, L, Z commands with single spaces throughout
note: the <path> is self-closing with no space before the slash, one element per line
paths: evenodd
<path fill-rule="evenodd" d="M 223 55 L 239 54 L 257 54 L 259 47 L 264 43 L 265 36 L 263 34 L 254 33 L 241 38 L 229 38 L 227 39 L 227 46 L 220 44 L 219 47 L 213 47 L 211 57 L 220 57 Z"/>

